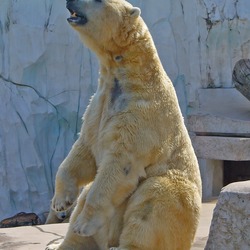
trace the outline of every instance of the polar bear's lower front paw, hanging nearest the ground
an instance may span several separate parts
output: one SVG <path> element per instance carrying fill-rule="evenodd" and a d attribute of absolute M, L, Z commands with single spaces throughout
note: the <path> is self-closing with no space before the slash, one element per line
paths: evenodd
<path fill-rule="evenodd" d="M 72 229 L 81 236 L 92 236 L 103 226 L 103 220 L 98 215 L 86 220 L 81 214 L 77 217 Z"/>

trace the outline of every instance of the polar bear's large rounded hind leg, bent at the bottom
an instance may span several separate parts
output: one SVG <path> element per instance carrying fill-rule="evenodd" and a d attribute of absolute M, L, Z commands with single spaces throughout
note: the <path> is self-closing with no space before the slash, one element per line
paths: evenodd
<path fill-rule="evenodd" d="M 131 196 L 112 250 L 188 250 L 198 225 L 198 188 L 182 174 L 150 177 Z"/>

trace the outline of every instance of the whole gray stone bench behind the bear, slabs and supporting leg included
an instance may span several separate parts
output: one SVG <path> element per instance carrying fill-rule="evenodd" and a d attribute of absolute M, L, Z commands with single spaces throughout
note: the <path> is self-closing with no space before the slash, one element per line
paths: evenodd
<path fill-rule="evenodd" d="M 250 161 L 250 102 L 235 88 L 200 89 L 187 127 L 199 159 L 202 196 L 218 196 L 224 161 Z"/>

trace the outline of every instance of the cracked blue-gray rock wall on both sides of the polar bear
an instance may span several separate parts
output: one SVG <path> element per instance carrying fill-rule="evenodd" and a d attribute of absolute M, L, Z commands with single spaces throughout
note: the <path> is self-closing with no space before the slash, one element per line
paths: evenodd
<path fill-rule="evenodd" d="M 249 0 L 134 0 L 184 116 L 196 90 L 233 87 L 250 57 Z M 96 89 L 98 62 L 69 27 L 65 1 L 0 1 L 0 220 L 49 208 L 60 162 Z"/>

